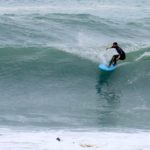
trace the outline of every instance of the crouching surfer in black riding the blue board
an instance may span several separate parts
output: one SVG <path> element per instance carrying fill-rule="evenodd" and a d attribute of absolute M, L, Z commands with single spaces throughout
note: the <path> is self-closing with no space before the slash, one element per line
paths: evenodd
<path fill-rule="evenodd" d="M 118 46 L 117 42 L 114 42 L 113 45 L 111 47 L 109 47 L 109 48 L 115 48 L 116 51 L 118 52 L 118 55 L 114 55 L 112 57 L 111 61 L 109 62 L 109 67 L 111 66 L 111 64 L 116 65 L 118 60 L 124 60 L 124 59 L 126 59 L 125 52 L 122 50 L 122 48 L 120 48 Z M 109 48 L 106 48 L 106 50 L 109 49 Z"/>

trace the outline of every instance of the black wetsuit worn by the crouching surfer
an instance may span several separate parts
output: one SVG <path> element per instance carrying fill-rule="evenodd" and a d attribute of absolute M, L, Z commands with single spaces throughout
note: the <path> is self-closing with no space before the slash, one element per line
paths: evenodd
<path fill-rule="evenodd" d="M 112 47 L 113 48 L 113 47 Z M 116 65 L 117 63 L 117 58 L 119 57 L 119 59 L 124 60 L 126 59 L 126 54 L 125 52 L 119 47 L 115 47 L 116 51 L 118 52 L 119 55 L 114 55 L 109 63 L 109 66 L 113 63 L 114 65 Z"/>

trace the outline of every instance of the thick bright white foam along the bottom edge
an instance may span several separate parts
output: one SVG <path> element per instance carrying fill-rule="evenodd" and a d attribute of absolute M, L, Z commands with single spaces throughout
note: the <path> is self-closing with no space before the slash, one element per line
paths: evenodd
<path fill-rule="evenodd" d="M 150 132 L 16 131 L 0 129 L 1 150 L 149 150 Z M 56 140 L 59 137 L 61 141 Z"/>

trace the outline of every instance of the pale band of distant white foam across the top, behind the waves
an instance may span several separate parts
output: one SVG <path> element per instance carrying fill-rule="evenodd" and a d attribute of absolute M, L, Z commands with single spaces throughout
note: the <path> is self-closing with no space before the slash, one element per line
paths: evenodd
<path fill-rule="evenodd" d="M 149 10 L 149 7 L 144 6 L 146 10 Z M 115 9 L 118 11 L 136 11 L 139 10 L 139 6 L 125 6 L 124 3 L 120 4 L 107 4 L 100 2 L 79 2 L 79 1 L 70 1 L 70 2 L 53 2 L 53 3 L 39 3 L 39 4 L 7 4 L 0 6 L 0 13 L 18 13 L 18 14 L 28 14 L 28 13 L 91 13 L 99 14 L 100 11 L 109 11 L 110 9 Z"/>

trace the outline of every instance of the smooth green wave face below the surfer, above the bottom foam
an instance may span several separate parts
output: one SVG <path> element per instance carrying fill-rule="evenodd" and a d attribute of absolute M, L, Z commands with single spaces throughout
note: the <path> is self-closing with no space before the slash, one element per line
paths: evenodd
<path fill-rule="evenodd" d="M 150 61 L 138 53 L 107 73 L 55 48 L 1 48 L 0 124 L 149 129 Z"/>

